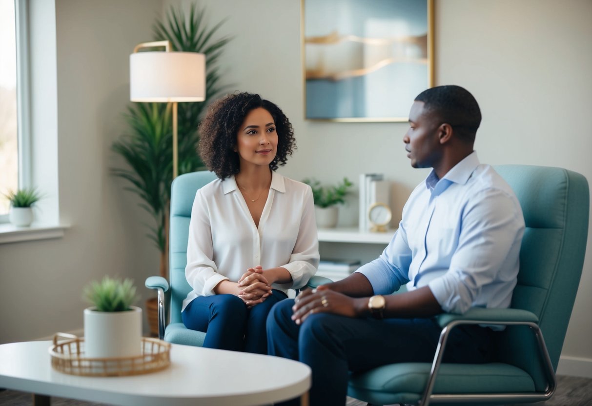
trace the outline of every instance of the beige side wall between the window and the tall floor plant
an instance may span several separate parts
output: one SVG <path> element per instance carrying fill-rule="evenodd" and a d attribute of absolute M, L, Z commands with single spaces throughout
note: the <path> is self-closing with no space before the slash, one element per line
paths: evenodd
<path fill-rule="evenodd" d="M 129 54 L 152 40 L 162 2 L 59 0 L 54 14 L 48 3 L 33 1 L 31 8 L 45 8 L 41 15 L 32 10 L 33 30 L 43 22 L 57 27 L 58 144 L 33 149 L 41 156 L 57 150 L 60 217 L 72 228 L 63 239 L 0 245 L 0 343 L 81 328 L 81 291 L 91 279 L 131 277 L 147 296 L 144 278 L 159 272 L 159 254 L 141 225 L 150 219 L 109 169 L 121 165 L 110 146 L 127 130 Z M 44 51 L 33 49 L 31 63 L 42 63 Z"/>

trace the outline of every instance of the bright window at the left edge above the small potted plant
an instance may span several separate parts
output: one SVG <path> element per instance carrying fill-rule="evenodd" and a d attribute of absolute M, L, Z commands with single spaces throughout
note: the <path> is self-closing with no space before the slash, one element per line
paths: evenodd
<path fill-rule="evenodd" d="M 26 0 L 0 0 L 0 223 L 4 194 L 29 185 Z"/>

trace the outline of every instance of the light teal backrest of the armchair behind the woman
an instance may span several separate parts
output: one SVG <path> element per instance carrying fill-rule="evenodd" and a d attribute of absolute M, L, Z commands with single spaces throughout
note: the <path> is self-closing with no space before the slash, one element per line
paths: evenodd
<path fill-rule="evenodd" d="M 170 323 L 181 323 L 181 305 L 191 291 L 191 286 L 185 279 L 185 265 L 187 265 L 189 220 L 191 220 L 195 192 L 214 179 L 216 179 L 214 172 L 202 170 L 178 176 L 170 186 Z"/>

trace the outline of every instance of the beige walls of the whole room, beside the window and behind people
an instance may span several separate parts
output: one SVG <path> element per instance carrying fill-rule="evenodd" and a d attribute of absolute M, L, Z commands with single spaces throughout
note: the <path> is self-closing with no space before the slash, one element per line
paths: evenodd
<path fill-rule="evenodd" d="M 149 219 L 108 174 L 118 163 L 109 146 L 126 128 L 128 54 L 152 38 L 162 4 L 180 2 L 57 1 L 59 201 L 72 228 L 60 240 L 0 245 L 0 342 L 82 327 L 81 288 L 104 273 L 133 276 L 147 295 L 143 278 L 157 272 L 158 254 L 140 224 Z M 277 102 L 294 124 L 299 149 L 284 175 L 335 182 L 382 172 L 398 201 L 426 176 L 403 152 L 404 123 L 303 120 L 300 1 L 204 3 L 212 24 L 229 17 L 220 33 L 236 36 L 221 58 L 224 82 Z M 588 0 L 436 1 L 436 84 L 477 97 L 483 162 L 562 166 L 592 180 L 590 21 Z M 353 198 L 340 224 L 356 219 Z M 587 254 L 562 360 L 580 360 L 592 376 L 590 243 Z"/>

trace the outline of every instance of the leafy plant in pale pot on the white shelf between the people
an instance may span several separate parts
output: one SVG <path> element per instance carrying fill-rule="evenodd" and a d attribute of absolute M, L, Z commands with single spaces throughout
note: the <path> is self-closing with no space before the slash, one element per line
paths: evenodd
<path fill-rule="evenodd" d="M 348 189 L 353 185 L 348 178 L 336 186 L 321 186 L 316 179 L 304 179 L 303 181 L 313 189 L 314 214 L 318 227 L 335 227 L 337 225 L 337 204 L 345 203 Z"/>

